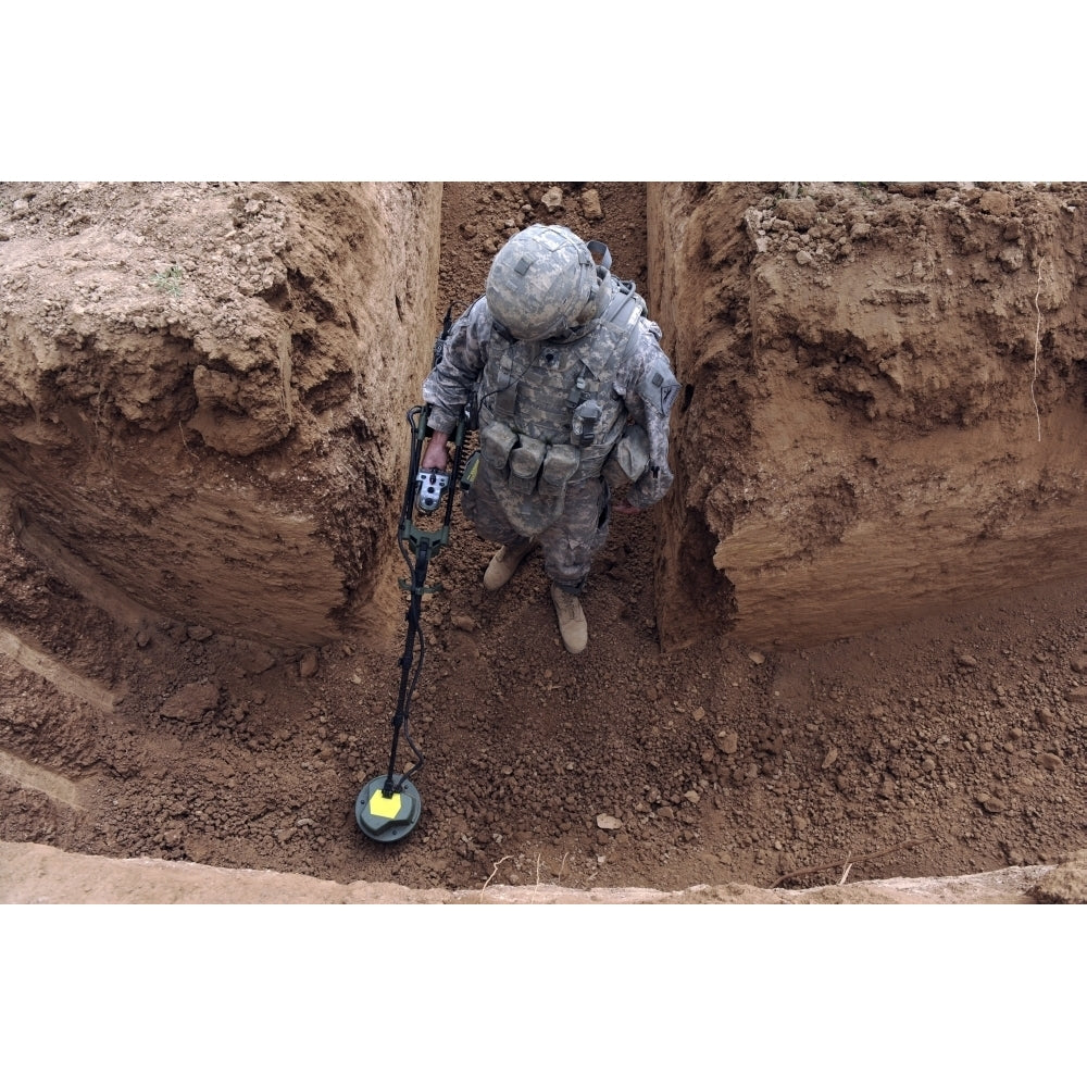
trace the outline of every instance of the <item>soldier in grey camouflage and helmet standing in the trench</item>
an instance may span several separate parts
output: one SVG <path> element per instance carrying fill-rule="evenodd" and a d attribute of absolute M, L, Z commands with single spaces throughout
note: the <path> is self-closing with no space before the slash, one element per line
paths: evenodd
<path fill-rule="evenodd" d="M 672 485 L 679 386 L 660 336 L 634 284 L 612 276 L 605 246 L 537 224 L 498 252 L 486 293 L 452 325 L 423 383 L 433 434 L 422 468 L 446 471 L 465 409 L 478 425 L 463 509 L 502 545 L 484 586 L 501 588 L 538 546 L 572 653 L 588 644 L 578 598 L 608 538 L 612 488 L 628 485 L 615 509 L 637 513 Z"/>

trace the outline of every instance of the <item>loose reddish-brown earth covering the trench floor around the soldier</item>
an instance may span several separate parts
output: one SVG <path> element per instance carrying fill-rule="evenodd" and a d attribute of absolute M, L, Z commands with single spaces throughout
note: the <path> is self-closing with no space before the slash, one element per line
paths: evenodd
<path fill-rule="evenodd" d="M 16 188 L 5 196 L 18 199 Z M 405 304 L 436 303 L 435 325 L 447 304 L 459 311 L 501 241 L 539 220 L 603 238 L 616 273 L 647 285 L 644 186 L 458 184 L 442 193 L 438 297 L 420 291 Z M 848 259 L 835 245 L 835 259 Z M 275 287 L 258 275 L 258 293 Z M 680 334 L 664 323 L 674 345 Z M 1072 363 L 1062 374 L 1079 380 Z M 857 397 L 878 415 L 883 391 L 871 383 L 821 380 L 839 407 Z M 265 425 L 283 425 L 276 411 L 267 407 Z M 924 405 L 916 412 L 920 426 Z M 211 420 L 205 430 L 251 438 Z M 393 423 L 379 445 L 407 441 L 407 424 Z M 153 441 L 147 450 L 153 457 Z M 147 468 L 174 471 L 153 460 Z M 376 495 L 380 473 L 375 480 Z M 284 472 L 278 484 L 304 508 L 304 479 Z M 7 487 L 17 493 L 18 479 Z M 847 490 L 823 492 L 832 535 L 835 493 Z M 380 493 L 389 534 L 398 500 Z M 684 584 L 683 608 L 654 601 L 654 583 L 666 594 L 678 561 L 661 567 L 660 511 L 616 518 L 585 601 L 589 648 L 574 658 L 538 562 L 485 594 L 490 548 L 458 511 L 430 571 L 445 591 L 424 608 L 412 703 L 423 817 L 388 846 L 359 833 L 353 804 L 386 770 L 402 614 L 383 605 L 355 636 L 339 630 L 309 651 L 186 621 L 176 603 L 126 623 L 110 580 L 71 548 L 50 551 L 55 533 L 27 536 L 25 495 L 10 504 L 0 540 L 8 842 L 443 891 L 802 889 L 1050 865 L 1084 844 L 1087 579 L 1070 576 L 1045 539 L 1035 541 L 1037 584 L 1024 577 L 971 602 L 925 599 L 911 622 L 815 645 L 808 629 L 808 645 L 788 648 L 740 640 L 704 616 L 688 637 L 677 616 L 701 587 Z M 726 533 L 722 507 L 711 509 Z M 1060 579 L 1046 580 L 1057 560 Z M 383 570 L 390 585 L 405 573 Z M 667 652 L 662 609 L 676 632 Z M 311 632 L 321 622 L 300 620 Z"/>

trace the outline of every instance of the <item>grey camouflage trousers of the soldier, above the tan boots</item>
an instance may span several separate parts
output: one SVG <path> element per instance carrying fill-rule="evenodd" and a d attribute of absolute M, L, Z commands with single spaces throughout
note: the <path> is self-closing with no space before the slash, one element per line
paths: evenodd
<path fill-rule="evenodd" d="M 476 532 L 493 544 L 525 542 L 509 522 L 480 471 L 464 495 L 464 515 Z M 561 589 L 575 596 L 585 588 L 592 557 L 608 540 L 609 489 L 603 479 L 569 484 L 562 516 L 536 537 L 544 553 L 544 572 Z"/>

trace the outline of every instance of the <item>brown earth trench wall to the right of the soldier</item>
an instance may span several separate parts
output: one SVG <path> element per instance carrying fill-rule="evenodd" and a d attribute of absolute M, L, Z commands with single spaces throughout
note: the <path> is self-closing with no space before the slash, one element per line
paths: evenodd
<path fill-rule="evenodd" d="M 649 187 L 684 386 L 665 648 L 815 644 L 1083 572 L 1083 196 Z"/>

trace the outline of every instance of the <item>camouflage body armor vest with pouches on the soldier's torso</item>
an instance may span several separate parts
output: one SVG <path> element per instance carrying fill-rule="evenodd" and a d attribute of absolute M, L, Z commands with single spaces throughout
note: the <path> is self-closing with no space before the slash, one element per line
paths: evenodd
<path fill-rule="evenodd" d="M 604 312 L 576 339 L 491 337 L 478 387 L 482 463 L 525 536 L 558 520 L 566 486 L 599 476 L 623 435 L 620 366 L 646 303 L 633 283 L 609 286 Z"/>

